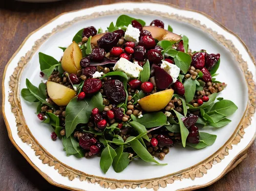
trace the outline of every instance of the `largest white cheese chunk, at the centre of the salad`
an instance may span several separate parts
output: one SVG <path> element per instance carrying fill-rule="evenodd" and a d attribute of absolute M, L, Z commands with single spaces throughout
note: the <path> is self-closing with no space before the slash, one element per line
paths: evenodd
<path fill-rule="evenodd" d="M 143 70 L 143 67 L 141 67 L 138 62 L 137 63 L 132 63 L 129 60 L 125 58 L 120 58 L 114 68 L 114 71 L 122 71 L 125 73 L 128 77 L 131 78 L 138 78 L 140 72 Z"/>

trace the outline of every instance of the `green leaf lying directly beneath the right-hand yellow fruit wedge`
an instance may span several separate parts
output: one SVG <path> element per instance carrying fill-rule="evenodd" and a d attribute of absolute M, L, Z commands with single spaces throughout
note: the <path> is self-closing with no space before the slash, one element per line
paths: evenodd
<path fill-rule="evenodd" d="M 159 112 L 144 114 L 143 117 L 141 118 L 137 117 L 136 122 L 145 126 L 145 128 L 152 128 L 152 127 L 158 127 L 166 124 L 167 117 L 163 112 L 159 111 Z"/>

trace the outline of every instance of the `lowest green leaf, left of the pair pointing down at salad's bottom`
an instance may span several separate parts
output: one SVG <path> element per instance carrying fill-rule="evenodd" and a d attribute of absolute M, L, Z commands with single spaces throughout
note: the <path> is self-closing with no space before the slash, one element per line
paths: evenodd
<path fill-rule="evenodd" d="M 103 149 L 100 157 L 100 169 L 104 174 L 109 170 L 115 156 L 116 151 L 109 145 Z"/>

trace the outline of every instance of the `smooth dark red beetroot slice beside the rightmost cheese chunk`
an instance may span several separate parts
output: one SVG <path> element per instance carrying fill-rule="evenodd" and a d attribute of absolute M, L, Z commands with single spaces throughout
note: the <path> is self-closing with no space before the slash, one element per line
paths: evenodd
<path fill-rule="evenodd" d="M 159 66 L 155 66 L 155 78 L 158 89 L 166 89 L 173 83 L 172 76 Z"/>

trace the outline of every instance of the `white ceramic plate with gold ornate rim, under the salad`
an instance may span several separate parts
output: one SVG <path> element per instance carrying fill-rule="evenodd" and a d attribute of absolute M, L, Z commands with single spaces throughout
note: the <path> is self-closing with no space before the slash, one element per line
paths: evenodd
<path fill-rule="evenodd" d="M 218 136 L 214 145 L 201 150 L 177 146 L 166 155 L 166 166 L 138 160 L 121 173 L 110 169 L 103 174 L 97 157 L 67 157 L 61 141 L 51 140 L 51 128 L 38 122 L 35 106 L 20 99 L 26 78 L 36 86 L 41 82 L 38 52 L 60 59 L 63 52 L 58 46 L 67 47 L 78 30 L 106 29 L 120 14 L 143 19 L 147 25 L 161 19 L 165 27 L 170 25 L 175 33 L 189 38 L 191 50 L 221 54 L 218 80 L 228 86 L 219 97 L 233 101 L 239 109 L 227 126 L 202 130 Z M 255 63 L 241 39 L 202 13 L 167 4 L 120 3 L 62 14 L 26 38 L 7 64 L 3 80 L 3 114 L 13 144 L 50 183 L 75 190 L 176 190 L 209 185 L 245 156 L 255 138 L 255 106 Z"/>

